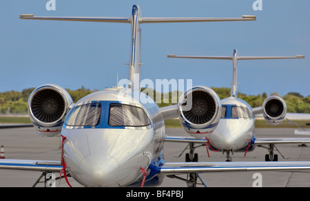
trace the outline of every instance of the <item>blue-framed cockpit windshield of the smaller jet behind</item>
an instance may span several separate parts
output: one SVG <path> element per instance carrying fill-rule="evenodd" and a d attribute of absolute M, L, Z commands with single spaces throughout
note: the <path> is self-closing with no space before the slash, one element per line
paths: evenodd
<path fill-rule="evenodd" d="M 222 105 L 220 118 L 253 118 L 249 108 L 237 105 Z"/>

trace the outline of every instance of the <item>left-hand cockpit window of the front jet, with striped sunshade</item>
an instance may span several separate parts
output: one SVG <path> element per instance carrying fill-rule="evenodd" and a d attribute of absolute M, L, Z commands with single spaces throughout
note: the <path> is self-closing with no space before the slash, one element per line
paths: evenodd
<path fill-rule="evenodd" d="M 101 103 L 79 105 L 72 109 L 65 121 L 68 126 L 96 126 L 100 124 Z"/>

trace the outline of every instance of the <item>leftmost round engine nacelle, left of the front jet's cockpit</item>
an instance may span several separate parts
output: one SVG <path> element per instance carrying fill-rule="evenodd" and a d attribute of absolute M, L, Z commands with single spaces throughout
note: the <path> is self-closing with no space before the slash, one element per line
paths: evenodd
<path fill-rule="evenodd" d="M 61 134 L 63 121 L 72 103 L 68 92 L 57 85 L 42 85 L 34 89 L 28 99 L 28 114 L 38 134 Z"/>

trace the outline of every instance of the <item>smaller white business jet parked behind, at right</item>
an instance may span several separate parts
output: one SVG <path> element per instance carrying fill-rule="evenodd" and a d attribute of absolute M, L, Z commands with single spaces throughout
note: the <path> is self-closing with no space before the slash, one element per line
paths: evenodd
<path fill-rule="evenodd" d="M 278 125 L 284 120 L 287 114 L 287 105 L 285 101 L 279 96 L 269 96 L 262 107 L 251 108 L 251 106 L 238 98 L 237 87 L 237 61 L 249 59 L 304 59 L 303 55 L 297 56 L 238 56 L 237 50 L 234 50 L 232 56 L 176 56 L 168 55 L 169 58 L 186 58 L 186 59 L 224 59 L 233 61 L 233 79 L 231 87 L 231 96 L 221 100 L 222 113 L 220 122 L 212 133 L 202 133 L 201 131 L 188 130 L 188 133 L 195 138 L 183 138 L 167 136 L 166 141 L 169 142 L 188 142 L 190 151 L 186 154 L 186 161 L 198 161 L 198 154 L 194 154 L 195 143 L 207 144 L 209 150 L 220 151 L 226 153 L 227 162 L 231 161 L 230 153 L 234 154 L 236 151 L 245 152 L 254 150 L 255 146 L 265 147 L 269 154 L 265 155 L 266 161 L 278 161 L 278 155 L 273 154 L 276 148 L 275 144 L 281 143 L 310 143 L 310 138 L 256 138 L 254 134 L 254 117 L 262 115 L 267 123 L 271 125 Z M 197 98 L 197 103 L 194 107 L 201 107 L 205 103 L 200 98 Z M 194 114 L 198 114 L 193 109 L 190 112 L 184 113 L 183 119 L 194 122 Z M 290 116 L 301 116 L 304 114 L 289 114 Z M 198 114 L 200 116 L 200 114 Z M 180 123 L 185 128 L 192 126 L 186 121 L 180 119 Z M 187 148 L 185 148 L 187 149 Z M 276 148 L 277 149 L 277 148 Z M 278 149 L 277 149 L 278 150 Z M 207 149 L 208 151 L 208 149 Z M 280 151 L 279 151 L 280 153 Z M 209 152 L 208 152 L 209 155 Z M 281 154 L 282 155 L 282 154 Z"/>

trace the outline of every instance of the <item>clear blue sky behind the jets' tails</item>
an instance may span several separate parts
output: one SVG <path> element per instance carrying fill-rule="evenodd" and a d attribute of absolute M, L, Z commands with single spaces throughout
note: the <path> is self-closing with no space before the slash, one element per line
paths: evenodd
<path fill-rule="evenodd" d="M 48 0 L 0 2 L 0 92 L 46 83 L 63 88 L 104 89 L 127 78 L 130 24 L 27 21 L 36 16 L 129 17 L 137 4 L 143 17 L 242 17 L 257 21 L 143 24 L 143 78 L 192 79 L 193 85 L 230 87 L 231 61 L 168 59 L 167 54 L 295 56 L 306 59 L 239 61 L 238 89 L 245 94 L 300 92 L 310 95 L 310 1 L 262 0 Z"/>

